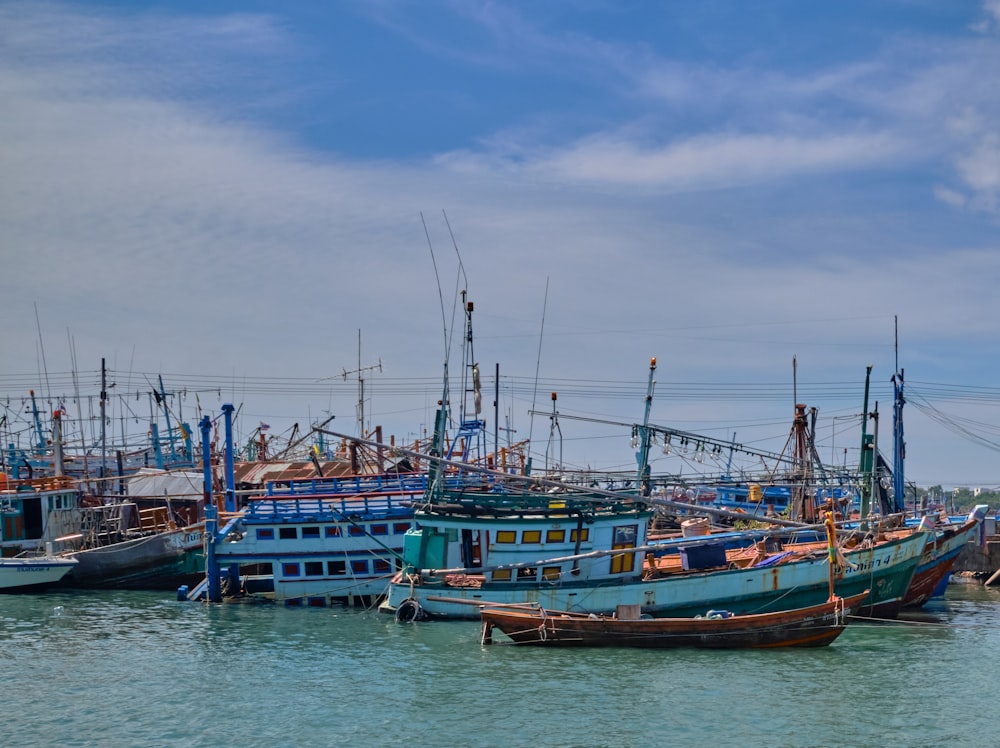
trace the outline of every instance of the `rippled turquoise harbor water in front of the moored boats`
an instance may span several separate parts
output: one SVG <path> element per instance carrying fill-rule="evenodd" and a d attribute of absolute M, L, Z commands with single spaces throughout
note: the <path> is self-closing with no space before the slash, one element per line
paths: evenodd
<path fill-rule="evenodd" d="M 498 635 L 500 638 L 500 635 Z M 995 746 L 1000 591 L 825 649 L 542 650 L 474 622 L 0 596 L 17 746 Z"/>

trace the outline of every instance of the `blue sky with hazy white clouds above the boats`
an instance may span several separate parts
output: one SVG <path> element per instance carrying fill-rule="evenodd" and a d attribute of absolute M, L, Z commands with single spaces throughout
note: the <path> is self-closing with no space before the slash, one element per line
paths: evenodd
<path fill-rule="evenodd" d="M 655 357 L 652 423 L 852 464 L 870 366 L 907 480 L 995 488 L 998 75 L 1000 0 L 0 0 L 4 438 L 103 362 L 114 428 L 409 441 L 474 361 L 628 469 Z"/>

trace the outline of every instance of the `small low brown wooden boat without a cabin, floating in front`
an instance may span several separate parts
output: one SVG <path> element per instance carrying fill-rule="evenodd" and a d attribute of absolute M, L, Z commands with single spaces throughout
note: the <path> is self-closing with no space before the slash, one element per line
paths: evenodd
<path fill-rule="evenodd" d="M 640 617 L 638 606 L 620 606 L 613 616 L 549 611 L 540 607 L 484 605 L 483 644 L 500 629 L 515 644 L 554 647 L 697 647 L 770 649 L 825 647 L 843 632 L 868 590 L 807 608 L 732 615 L 709 611 L 698 618 Z"/>

